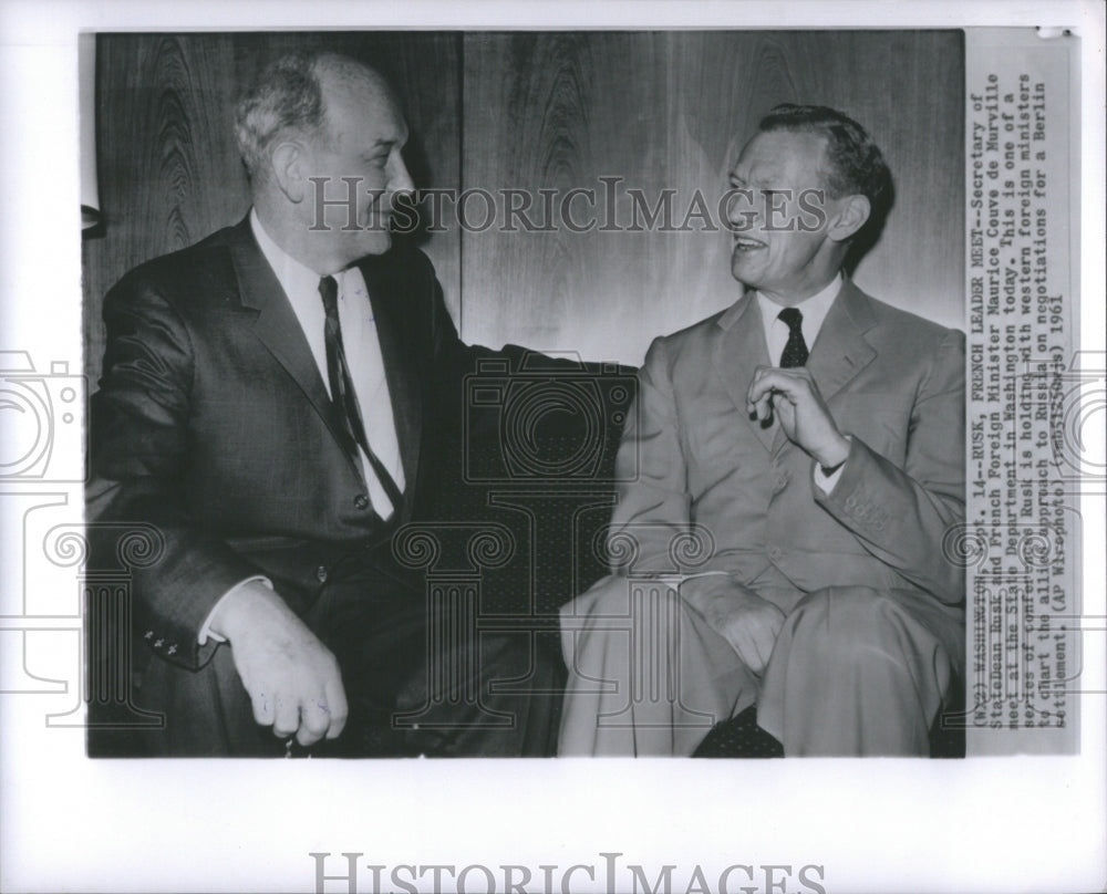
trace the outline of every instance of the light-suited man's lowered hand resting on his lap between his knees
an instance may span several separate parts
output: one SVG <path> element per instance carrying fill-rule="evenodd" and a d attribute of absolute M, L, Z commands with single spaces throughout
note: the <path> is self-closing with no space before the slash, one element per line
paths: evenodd
<path fill-rule="evenodd" d="M 731 644 L 746 667 L 754 674 L 765 669 L 784 626 L 784 612 L 723 574 L 685 581 L 681 596 Z"/>

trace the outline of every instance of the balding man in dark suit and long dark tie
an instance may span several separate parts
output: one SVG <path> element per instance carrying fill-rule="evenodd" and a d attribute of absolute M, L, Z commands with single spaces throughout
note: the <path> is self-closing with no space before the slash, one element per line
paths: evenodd
<path fill-rule="evenodd" d="M 438 487 L 466 356 L 430 261 L 392 246 L 412 189 L 395 96 L 358 61 L 292 54 L 236 132 L 250 214 L 104 302 L 90 569 L 120 531 L 151 536 L 127 683 L 164 727 L 94 729 L 93 750 L 548 753 L 549 697 L 494 684 L 552 692 L 556 659 L 496 636 L 428 645 L 424 583 L 391 551 Z M 432 677 L 453 688 L 432 697 Z"/>

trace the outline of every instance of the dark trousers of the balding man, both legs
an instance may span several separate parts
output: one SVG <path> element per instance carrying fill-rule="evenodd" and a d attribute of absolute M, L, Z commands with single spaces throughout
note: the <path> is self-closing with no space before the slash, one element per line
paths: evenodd
<path fill-rule="evenodd" d="M 304 621 L 338 658 L 350 716 L 337 740 L 318 742 L 310 753 L 552 755 L 560 658 L 528 631 L 478 632 L 469 623 L 474 611 L 464 593 L 428 604 L 421 579 L 375 568 L 328 585 Z M 197 671 L 152 657 L 135 677 L 135 706 L 161 715 L 163 725 L 126 737 L 100 732 L 94 753 L 286 753 L 284 740 L 255 721 L 230 645 Z"/>

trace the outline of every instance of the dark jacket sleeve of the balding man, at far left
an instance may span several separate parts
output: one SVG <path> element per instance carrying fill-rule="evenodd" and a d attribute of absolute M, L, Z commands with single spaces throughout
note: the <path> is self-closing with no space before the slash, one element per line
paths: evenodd
<path fill-rule="evenodd" d="M 108 293 L 104 321 L 104 371 L 90 402 L 89 564 L 126 566 L 139 638 L 198 667 L 217 647 L 197 642 L 208 613 L 258 570 L 193 524 L 185 508 L 195 361 L 187 325 L 142 273 Z"/>

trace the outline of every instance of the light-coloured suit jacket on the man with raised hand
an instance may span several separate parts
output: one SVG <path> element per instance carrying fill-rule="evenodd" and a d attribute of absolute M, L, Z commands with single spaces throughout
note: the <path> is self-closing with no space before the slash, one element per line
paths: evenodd
<path fill-rule="evenodd" d="M 747 415 L 759 364 L 769 357 L 752 293 L 653 343 L 611 536 L 639 541 L 639 570 L 670 571 L 671 539 L 696 522 L 713 538 L 705 566 L 785 611 L 820 588 L 870 586 L 937 600 L 960 630 L 965 572 L 943 539 L 964 520 L 964 335 L 845 282 L 807 363 L 852 436 L 829 496 L 777 423 Z"/>

